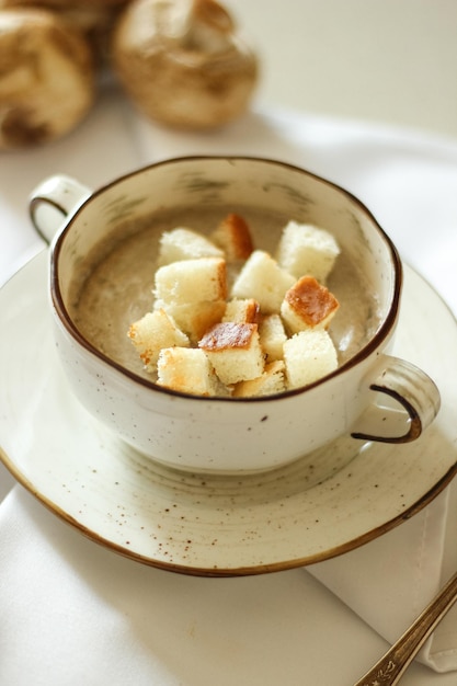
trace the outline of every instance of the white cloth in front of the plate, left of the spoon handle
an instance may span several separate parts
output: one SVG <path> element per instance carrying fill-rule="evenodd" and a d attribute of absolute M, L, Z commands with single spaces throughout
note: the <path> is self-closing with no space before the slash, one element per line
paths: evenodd
<path fill-rule="evenodd" d="M 347 660 L 366 627 L 301 570 L 206 579 L 149 568 L 20 487 L 0 506 L 0 541 L 2 686 L 329 686 L 354 683 L 373 660 Z"/>

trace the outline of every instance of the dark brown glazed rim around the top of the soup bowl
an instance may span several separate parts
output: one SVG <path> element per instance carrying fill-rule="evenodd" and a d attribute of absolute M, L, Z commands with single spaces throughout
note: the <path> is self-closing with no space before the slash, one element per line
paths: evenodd
<path fill-rule="evenodd" d="M 316 179 L 317 181 L 320 181 L 324 184 L 327 184 L 329 187 L 333 188 L 334 191 L 338 191 L 339 193 L 345 195 L 345 197 L 353 203 L 354 205 L 358 206 L 358 208 L 366 214 L 366 216 L 373 221 L 374 226 L 376 227 L 376 229 L 378 230 L 379 235 L 381 236 L 381 238 L 384 239 L 385 243 L 387 244 L 387 247 L 389 248 L 390 251 L 390 256 L 391 256 L 391 261 L 392 261 L 392 267 L 393 267 L 393 272 L 395 272 L 395 287 L 393 287 L 393 294 L 392 294 L 392 300 L 389 307 L 389 310 L 387 312 L 387 316 L 384 318 L 382 323 L 380 324 L 380 327 L 378 328 L 378 330 L 376 331 L 376 333 L 374 334 L 374 336 L 369 340 L 369 342 L 358 351 L 358 353 L 356 353 L 353 357 L 351 357 L 351 359 L 349 359 L 347 362 L 345 362 L 343 365 L 339 366 L 338 369 L 335 369 L 334 371 L 332 371 L 331 374 L 327 375 L 325 377 L 323 377 L 322 379 L 319 379 L 318 381 L 315 381 L 313 384 L 310 384 L 306 387 L 301 387 L 301 388 L 296 388 L 296 389 L 292 389 L 292 390 L 286 390 L 282 393 L 277 393 L 275 396 L 266 396 L 266 397 L 260 397 L 260 398 L 226 398 L 226 397 L 212 397 L 210 399 L 208 399 L 206 396 L 193 396 L 192 393 L 184 393 L 182 391 L 174 391 L 168 388 L 164 388 L 162 386 L 159 386 L 158 384 L 155 384 L 153 381 L 149 381 L 148 379 L 138 376 L 137 374 L 135 374 L 134 371 L 130 371 L 129 369 L 125 368 L 124 366 L 122 366 L 121 364 L 116 363 L 115 361 L 111 359 L 108 356 L 104 355 L 101 351 L 99 351 L 95 346 L 93 346 L 90 341 L 88 341 L 82 334 L 81 332 L 78 330 L 78 328 L 75 325 L 67 308 L 64 305 L 64 299 L 61 296 L 61 291 L 60 291 L 60 286 L 59 286 L 59 255 L 60 255 L 60 250 L 62 247 L 62 242 L 67 236 L 67 233 L 71 230 L 71 226 L 73 224 L 73 221 L 78 218 L 78 216 L 80 215 L 81 211 L 84 210 L 85 206 L 89 205 L 91 202 L 93 202 L 96 197 L 99 197 L 100 195 L 102 195 L 106 190 L 112 188 L 113 186 L 116 186 L 117 184 L 122 183 L 123 181 L 127 180 L 127 179 L 132 179 L 133 176 L 139 175 L 141 173 L 144 173 L 145 171 L 148 171 L 150 169 L 155 169 L 155 168 L 159 168 L 159 167 L 164 167 L 164 165 L 169 165 L 169 164 L 174 164 L 176 162 L 204 162 L 204 161 L 224 161 L 227 160 L 228 162 L 237 162 L 237 161 L 247 161 L 247 162 L 261 162 L 263 164 L 272 164 L 274 167 L 283 167 L 284 169 L 289 169 L 292 171 L 295 172 L 299 172 L 302 174 L 306 174 L 307 176 L 310 176 L 312 179 Z M 52 258 L 52 263 L 50 263 L 50 295 L 52 295 L 52 300 L 53 300 L 53 305 L 56 309 L 56 312 L 60 319 L 60 321 L 62 322 L 62 324 L 65 325 L 66 330 L 68 331 L 68 333 L 83 347 L 85 348 L 91 355 L 94 355 L 95 357 L 98 357 L 103 364 L 107 365 L 108 367 L 112 367 L 113 369 L 117 370 L 119 374 L 126 376 L 127 378 L 129 378 L 132 381 L 139 384 L 140 386 L 148 388 L 150 390 L 153 390 L 156 392 L 160 392 L 160 393 L 164 393 L 168 396 L 176 396 L 180 398 L 186 398 L 188 400 L 194 400 L 195 402 L 198 401 L 205 401 L 208 402 L 208 400 L 210 400 L 212 402 L 269 402 L 273 399 L 278 399 L 278 398 L 285 398 L 285 397 L 292 397 L 292 396 L 299 396 L 306 391 L 308 391 L 311 388 L 315 388 L 316 386 L 319 386 L 320 384 L 323 384 L 325 381 L 328 381 L 329 379 L 332 379 L 333 377 L 336 377 L 341 374 L 343 374 L 344 371 L 346 371 L 347 369 L 351 369 L 352 367 L 356 366 L 359 362 L 362 362 L 363 359 L 367 358 L 378 346 L 379 344 L 386 340 L 388 338 L 388 335 L 390 334 L 396 319 L 397 319 L 397 313 L 398 313 L 398 309 L 399 309 L 399 304 L 400 304 L 400 294 L 401 294 L 401 288 L 402 288 L 402 279 L 403 279 L 403 271 L 402 271 L 402 264 L 401 264 L 401 260 L 399 256 L 399 253 L 397 251 L 397 248 L 395 247 L 395 244 L 392 243 L 391 239 L 388 237 L 388 235 L 385 232 L 385 230 L 380 227 L 380 225 L 378 224 L 378 221 L 376 220 L 376 218 L 374 217 L 374 215 L 369 211 L 369 209 L 352 193 L 350 193 L 349 191 L 346 191 L 345 188 L 343 188 L 342 186 L 327 180 L 323 179 L 322 176 L 319 176 L 318 174 L 315 174 L 308 170 L 305 170 L 302 168 L 299 168 L 297 165 L 294 164 L 289 164 L 287 162 L 283 162 L 279 160 L 273 160 L 273 159 L 267 159 L 267 158 L 259 158 L 259 157 L 249 157 L 249 156 L 188 156 L 188 157 L 178 157 L 178 158 L 170 158 L 160 162 L 156 162 L 153 164 L 148 164 L 146 167 L 141 167 L 133 172 L 129 172 L 127 174 L 124 174 L 122 176 L 116 178 L 114 181 L 101 186 L 99 190 L 94 191 L 92 193 L 92 195 L 90 195 L 89 198 L 87 198 L 77 209 L 77 211 L 75 213 L 75 215 L 72 215 L 72 217 L 70 218 L 70 220 L 68 221 L 68 224 L 65 226 L 65 228 L 62 229 L 62 231 L 60 232 L 60 235 L 57 237 L 55 243 L 54 243 L 54 248 L 53 248 L 53 258 Z"/>

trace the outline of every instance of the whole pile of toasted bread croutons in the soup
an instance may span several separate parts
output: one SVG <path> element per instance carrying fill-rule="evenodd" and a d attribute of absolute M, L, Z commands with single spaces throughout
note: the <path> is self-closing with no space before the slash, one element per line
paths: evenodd
<path fill-rule="evenodd" d="M 185 227 L 165 231 L 159 252 L 153 311 L 128 330 L 159 385 L 261 397 L 338 367 L 327 329 L 339 302 L 322 281 L 339 248 L 327 231 L 290 221 L 275 260 L 253 250 L 248 225 L 231 214 L 209 239 Z"/>

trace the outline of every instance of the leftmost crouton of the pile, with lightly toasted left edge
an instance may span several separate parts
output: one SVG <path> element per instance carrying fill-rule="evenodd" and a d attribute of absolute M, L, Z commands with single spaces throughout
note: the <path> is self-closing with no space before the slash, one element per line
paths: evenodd
<path fill-rule="evenodd" d="M 127 335 L 132 339 L 148 371 L 156 371 L 162 347 L 188 347 L 188 338 L 163 309 L 148 312 L 134 322 Z"/>

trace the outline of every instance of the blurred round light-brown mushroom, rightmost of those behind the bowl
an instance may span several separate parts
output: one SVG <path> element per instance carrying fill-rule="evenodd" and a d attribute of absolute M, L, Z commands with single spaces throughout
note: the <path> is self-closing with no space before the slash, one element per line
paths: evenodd
<path fill-rule="evenodd" d="M 208 128 L 242 114 L 258 59 L 215 0 L 134 0 L 118 20 L 113 66 L 151 119 Z"/>

